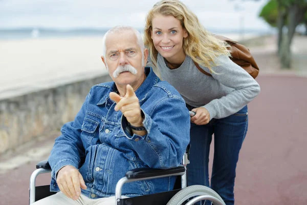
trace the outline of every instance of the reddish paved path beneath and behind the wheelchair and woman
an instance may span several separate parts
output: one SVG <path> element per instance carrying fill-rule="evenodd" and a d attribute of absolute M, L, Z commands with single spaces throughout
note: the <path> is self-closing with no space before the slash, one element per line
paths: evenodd
<path fill-rule="evenodd" d="M 307 78 L 260 75 L 257 80 L 261 92 L 249 105 L 249 130 L 237 167 L 236 204 L 307 204 Z M 35 162 L 30 161 L 22 169 L 0 175 L 1 204 L 28 204 L 34 169 Z M 49 180 L 49 174 L 38 178 L 40 184 Z"/>

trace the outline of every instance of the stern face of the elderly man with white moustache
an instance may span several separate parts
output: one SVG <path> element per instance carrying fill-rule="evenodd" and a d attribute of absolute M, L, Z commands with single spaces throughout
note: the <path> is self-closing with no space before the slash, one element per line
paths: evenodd
<path fill-rule="evenodd" d="M 138 88 L 144 81 L 144 66 L 148 51 L 142 51 L 133 31 L 110 33 L 105 39 L 106 54 L 102 57 L 109 75 L 119 86 L 131 85 Z M 143 64 L 143 65 L 142 65 Z"/>

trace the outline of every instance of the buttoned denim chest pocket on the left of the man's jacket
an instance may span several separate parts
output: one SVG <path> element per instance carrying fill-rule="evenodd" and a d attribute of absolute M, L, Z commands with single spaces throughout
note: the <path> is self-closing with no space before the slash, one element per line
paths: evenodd
<path fill-rule="evenodd" d="M 99 126 L 99 122 L 94 119 L 85 117 L 82 127 L 81 127 L 81 136 L 83 141 L 87 142 L 87 145 L 91 145 L 92 139 L 96 135 L 97 128 Z"/>

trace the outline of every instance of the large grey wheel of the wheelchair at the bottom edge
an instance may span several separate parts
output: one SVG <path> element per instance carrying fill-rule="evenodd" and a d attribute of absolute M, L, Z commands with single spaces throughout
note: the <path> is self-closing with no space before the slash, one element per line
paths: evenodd
<path fill-rule="evenodd" d="M 211 200 L 214 205 L 226 205 L 220 195 L 218 195 L 212 189 L 201 186 L 201 185 L 193 185 L 186 187 L 175 194 L 166 205 L 179 205 L 179 204 L 186 204 L 188 201 L 195 199 L 195 197 L 199 196 L 208 196 L 213 197 L 215 201 Z M 217 200 L 216 200 L 217 199 Z M 198 202 L 204 199 L 200 199 L 194 202 Z"/>

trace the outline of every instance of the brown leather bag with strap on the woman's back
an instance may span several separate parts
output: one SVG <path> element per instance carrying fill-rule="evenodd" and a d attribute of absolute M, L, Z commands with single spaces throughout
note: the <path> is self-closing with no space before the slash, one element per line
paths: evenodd
<path fill-rule="evenodd" d="M 259 73 L 259 68 L 256 64 L 256 61 L 252 54 L 250 53 L 249 49 L 243 46 L 242 44 L 239 44 L 235 40 L 231 40 L 227 37 L 221 36 L 221 35 L 214 35 L 216 38 L 220 40 L 224 40 L 230 45 L 231 50 L 231 57 L 230 59 L 237 64 L 238 66 L 242 67 L 244 70 L 246 70 L 253 78 L 256 78 Z M 197 63 L 195 63 L 195 66 L 205 75 L 212 76 L 210 73 L 207 73 L 204 71 Z"/>

